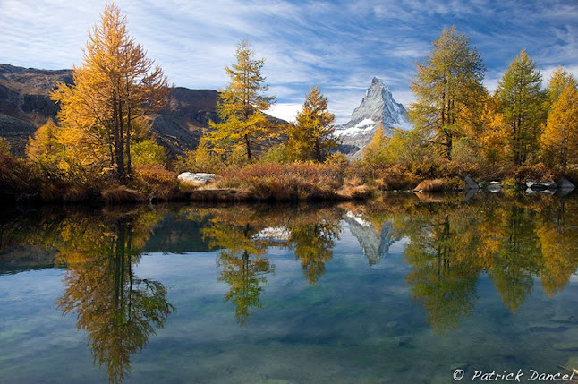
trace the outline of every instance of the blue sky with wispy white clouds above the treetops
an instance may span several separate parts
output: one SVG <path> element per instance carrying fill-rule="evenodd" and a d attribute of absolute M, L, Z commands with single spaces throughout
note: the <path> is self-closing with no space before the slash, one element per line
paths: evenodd
<path fill-rule="evenodd" d="M 108 2 L 0 0 L 0 63 L 64 69 L 81 64 L 88 30 Z M 578 0 L 232 1 L 117 0 L 128 30 L 175 86 L 225 88 L 225 66 L 248 39 L 264 58 L 271 115 L 294 120 L 318 85 L 345 123 L 371 79 L 409 105 L 416 63 L 441 30 L 470 38 L 490 91 L 525 48 L 546 82 L 562 65 L 578 77 Z"/>

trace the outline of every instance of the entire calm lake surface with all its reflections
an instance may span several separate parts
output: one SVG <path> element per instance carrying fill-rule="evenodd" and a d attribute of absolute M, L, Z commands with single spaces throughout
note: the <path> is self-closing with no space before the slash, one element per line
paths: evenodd
<path fill-rule="evenodd" d="M 577 267 L 572 196 L 13 209 L 0 382 L 568 373 Z"/>

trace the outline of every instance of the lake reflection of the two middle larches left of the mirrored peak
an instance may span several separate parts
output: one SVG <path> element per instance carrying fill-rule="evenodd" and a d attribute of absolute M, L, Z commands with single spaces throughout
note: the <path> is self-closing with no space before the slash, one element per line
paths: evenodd
<path fill-rule="evenodd" d="M 339 234 L 340 210 L 275 206 L 235 206 L 225 209 L 196 209 L 190 218 L 211 217 L 203 230 L 211 247 L 222 248 L 217 257 L 219 280 L 229 292 L 226 301 L 235 303 L 235 318 L 246 325 L 252 308 L 260 308 L 260 294 L 267 275 L 275 270 L 266 257 L 269 246 L 291 247 L 302 261 L 303 275 L 315 284 L 333 257 Z"/>

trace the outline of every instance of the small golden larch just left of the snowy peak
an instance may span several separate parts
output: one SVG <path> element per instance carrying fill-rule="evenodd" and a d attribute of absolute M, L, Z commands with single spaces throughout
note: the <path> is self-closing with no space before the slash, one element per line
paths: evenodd
<path fill-rule="evenodd" d="M 311 88 L 296 123 L 289 129 L 286 152 L 293 160 L 324 161 L 339 139 L 334 135 L 335 115 L 327 109 L 327 98 L 319 87 Z"/>

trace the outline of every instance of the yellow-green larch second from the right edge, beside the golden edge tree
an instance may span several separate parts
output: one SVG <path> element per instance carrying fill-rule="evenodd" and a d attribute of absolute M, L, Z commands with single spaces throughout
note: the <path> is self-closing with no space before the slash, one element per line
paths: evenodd
<path fill-rule="evenodd" d="M 509 127 L 509 144 L 516 166 L 537 153 L 541 125 L 546 119 L 542 76 L 523 49 L 497 84 L 500 112 Z"/>

